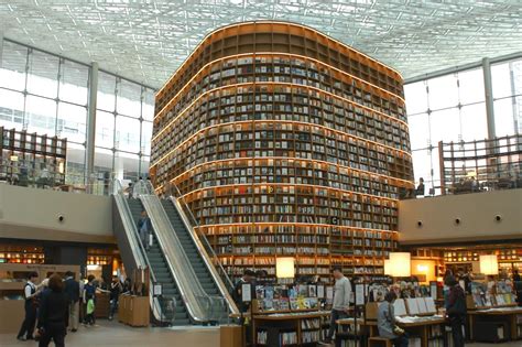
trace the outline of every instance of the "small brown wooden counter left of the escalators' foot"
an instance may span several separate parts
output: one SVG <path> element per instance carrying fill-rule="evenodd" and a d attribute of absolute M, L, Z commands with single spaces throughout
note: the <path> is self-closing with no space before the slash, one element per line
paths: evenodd
<path fill-rule="evenodd" d="M 118 321 L 130 326 L 149 326 L 151 321 L 149 296 L 121 294 L 118 304 Z"/>

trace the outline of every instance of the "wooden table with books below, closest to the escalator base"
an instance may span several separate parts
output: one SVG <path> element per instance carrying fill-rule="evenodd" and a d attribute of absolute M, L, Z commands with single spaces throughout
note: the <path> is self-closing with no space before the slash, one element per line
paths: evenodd
<path fill-rule="evenodd" d="M 297 344 L 293 344 L 293 346 L 302 346 L 303 340 L 303 333 L 305 330 L 302 329 L 302 321 L 303 319 L 314 319 L 319 318 L 319 327 L 318 328 L 309 328 L 306 332 L 318 330 L 319 332 L 319 339 L 320 339 L 320 330 L 323 329 L 323 321 L 322 318 L 327 317 L 330 315 L 329 311 L 316 311 L 316 312 L 307 312 L 307 313 L 285 313 L 285 314 L 253 314 L 252 315 L 252 345 L 253 346 L 272 346 L 270 341 L 275 339 L 274 334 L 279 334 L 279 330 L 292 330 L 296 333 L 297 336 Z M 268 336 L 268 344 L 258 344 L 258 328 L 264 327 L 270 334 Z"/>

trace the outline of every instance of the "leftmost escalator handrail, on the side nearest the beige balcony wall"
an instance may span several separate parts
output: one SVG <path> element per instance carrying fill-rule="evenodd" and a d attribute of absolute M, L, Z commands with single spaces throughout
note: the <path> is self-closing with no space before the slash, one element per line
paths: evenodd
<path fill-rule="evenodd" d="M 134 220 L 132 219 L 132 213 L 129 207 L 129 203 L 127 202 L 126 196 L 123 195 L 123 187 L 121 186 L 121 182 L 117 178 L 112 180 L 112 187 L 111 192 L 112 195 L 115 196 L 115 202 L 118 206 L 118 210 L 120 212 L 121 215 L 121 220 L 123 221 L 123 228 L 127 234 L 127 238 L 129 242 L 131 243 L 131 251 L 134 256 L 134 259 L 137 260 L 137 264 L 139 268 L 149 268 L 149 273 L 150 273 L 150 280 L 149 280 L 149 288 L 152 289 L 154 283 L 156 282 L 156 278 L 154 274 L 154 270 L 152 269 L 149 258 L 145 257 L 145 249 L 143 248 L 143 245 L 141 240 L 138 240 L 138 229 L 134 224 Z M 129 220 L 129 218 L 131 220 Z M 130 232 L 129 232 L 130 231 Z M 134 252 L 135 249 L 139 249 L 138 252 Z M 157 297 L 154 297 L 149 293 L 149 301 L 150 305 L 152 307 L 152 314 L 157 321 L 162 321 L 163 314 L 162 314 L 162 307 L 161 304 L 157 301 Z"/>

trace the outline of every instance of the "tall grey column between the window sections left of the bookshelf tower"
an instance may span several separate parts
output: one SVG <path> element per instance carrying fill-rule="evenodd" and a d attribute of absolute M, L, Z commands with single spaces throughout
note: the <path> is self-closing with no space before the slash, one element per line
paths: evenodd
<path fill-rule="evenodd" d="M 93 193 L 95 170 L 96 105 L 98 99 L 98 63 L 93 62 L 89 76 L 89 104 L 87 112 L 87 143 L 85 149 L 87 193 Z"/>

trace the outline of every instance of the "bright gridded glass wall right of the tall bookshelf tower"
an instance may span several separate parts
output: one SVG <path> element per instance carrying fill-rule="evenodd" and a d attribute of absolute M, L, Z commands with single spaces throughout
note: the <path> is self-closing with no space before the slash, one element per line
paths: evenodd
<path fill-rule="evenodd" d="M 498 137 L 522 130 L 522 59 L 491 66 Z M 438 142 L 488 137 L 482 68 L 404 86 L 415 181 L 439 194 Z"/>

